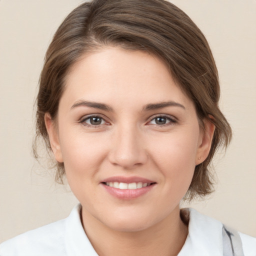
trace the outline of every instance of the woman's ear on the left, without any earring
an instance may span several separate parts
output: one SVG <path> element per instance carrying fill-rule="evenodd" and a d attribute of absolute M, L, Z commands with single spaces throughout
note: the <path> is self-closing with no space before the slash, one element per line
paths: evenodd
<path fill-rule="evenodd" d="M 50 147 L 58 162 L 63 162 L 61 148 L 58 139 L 58 132 L 54 121 L 49 113 L 44 114 L 44 123 L 48 132 Z"/>

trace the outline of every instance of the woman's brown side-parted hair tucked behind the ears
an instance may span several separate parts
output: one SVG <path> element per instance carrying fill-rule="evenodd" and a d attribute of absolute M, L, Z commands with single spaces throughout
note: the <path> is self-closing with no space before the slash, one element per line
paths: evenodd
<path fill-rule="evenodd" d="M 218 74 L 204 35 L 182 10 L 165 0 L 93 0 L 64 19 L 48 47 L 40 76 L 36 139 L 41 136 L 51 151 L 44 114 L 56 117 L 71 66 L 85 52 L 104 45 L 143 50 L 161 58 L 194 102 L 200 127 L 204 118 L 214 123 L 209 155 L 195 167 L 186 198 L 210 193 L 213 187 L 207 166 L 216 149 L 229 143 L 231 128 L 218 108 Z M 57 163 L 56 180 L 61 182 L 63 174 L 63 163 Z"/>

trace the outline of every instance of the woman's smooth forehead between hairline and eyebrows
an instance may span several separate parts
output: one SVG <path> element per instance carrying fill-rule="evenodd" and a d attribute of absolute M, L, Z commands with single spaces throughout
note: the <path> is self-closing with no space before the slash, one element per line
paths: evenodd
<path fill-rule="evenodd" d="M 65 86 L 62 98 L 69 104 L 79 98 L 119 105 L 130 100 L 137 105 L 169 100 L 191 104 L 166 64 L 143 51 L 108 47 L 86 53 L 70 69 Z"/>

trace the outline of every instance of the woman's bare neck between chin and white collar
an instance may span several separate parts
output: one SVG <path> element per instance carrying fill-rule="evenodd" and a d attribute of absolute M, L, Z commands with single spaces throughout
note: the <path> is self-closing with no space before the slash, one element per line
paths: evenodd
<path fill-rule="evenodd" d="M 85 232 L 99 256 L 177 255 L 188 229 L 179 217 L 177 206 L 170 215 L 149 228 L 125 232 L 113 230 L 82 211 Z"/>

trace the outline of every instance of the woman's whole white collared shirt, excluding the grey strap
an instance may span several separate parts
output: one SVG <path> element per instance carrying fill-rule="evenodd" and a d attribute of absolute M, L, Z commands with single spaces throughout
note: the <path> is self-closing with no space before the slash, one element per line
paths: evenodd
<path fill-rule="evenodd" d="M 0 244 L 0 256 L 98 256 L 80 221 L 80 204 L 62 220 Z M 222 256 L 222 223 L 189 208 L 188 236 L 178 256 Z M 239 233 L 244 256 L 256 256 L 256 238 Z"/>

